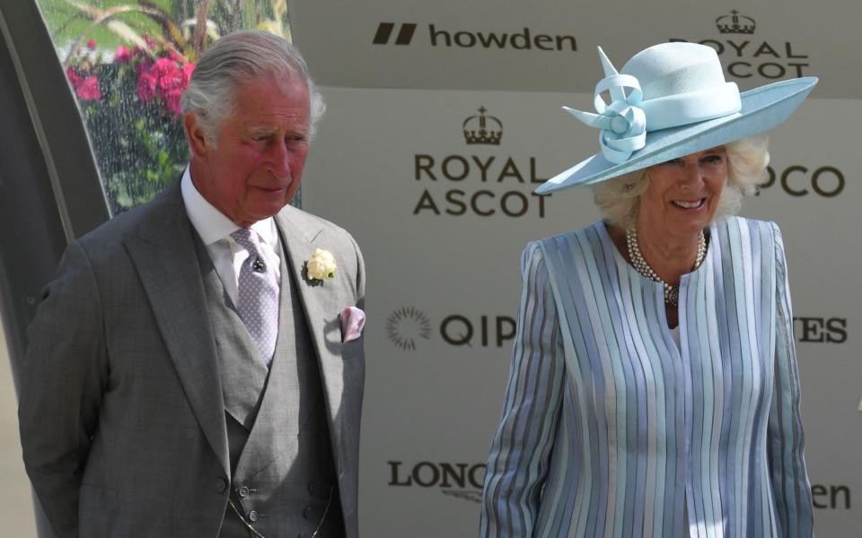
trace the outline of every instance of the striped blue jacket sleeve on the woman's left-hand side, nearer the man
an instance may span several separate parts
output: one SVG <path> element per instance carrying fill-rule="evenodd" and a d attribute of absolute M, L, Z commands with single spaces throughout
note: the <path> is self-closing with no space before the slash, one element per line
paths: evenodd
<path fill-rule="evenodd" d="M 559 423 L 565 366 L 557 308 L 541 247 L 521 257 L 523 290 L 503 417 L 488 456 L 483 537 L 532 536 Z"/>

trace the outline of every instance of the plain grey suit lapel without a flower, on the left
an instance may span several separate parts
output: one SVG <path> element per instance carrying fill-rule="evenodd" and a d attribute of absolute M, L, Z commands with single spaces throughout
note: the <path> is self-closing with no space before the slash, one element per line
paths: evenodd
<path fill-rule="evenodd" d="M 194 234 L 179 182 L 163 195 L 153 225 L 124 240 L 201 430 L 229 475 L 216 345 L 207 316 Z"/>

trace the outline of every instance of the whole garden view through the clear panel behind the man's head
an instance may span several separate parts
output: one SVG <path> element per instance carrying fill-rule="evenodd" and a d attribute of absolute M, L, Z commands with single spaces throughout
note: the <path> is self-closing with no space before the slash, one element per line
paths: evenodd
<path fill-rule="evenodd" d="M 200 53 L 240 28 L 289 39 L 287 0 L 37 1 L 114 214 L 152 199 L 189 161 L 178 100 Z M 142 93 L 146 77 L 155 89 Z"/>

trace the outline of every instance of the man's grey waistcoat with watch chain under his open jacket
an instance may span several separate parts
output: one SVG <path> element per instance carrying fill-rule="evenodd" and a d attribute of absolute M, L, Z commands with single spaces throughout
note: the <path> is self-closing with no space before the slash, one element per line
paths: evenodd
<path fill-rule="evenodd" d="M 343 536 L 320 367 L 286 256 L 282 248 L 278 337 L 267 369 L 198 242 L 224 391 L 231 499 L 266 538 L 311 536 L 321 518 L 319 538 Z M 230 505 L 219 536 L 257 538 Z"/>

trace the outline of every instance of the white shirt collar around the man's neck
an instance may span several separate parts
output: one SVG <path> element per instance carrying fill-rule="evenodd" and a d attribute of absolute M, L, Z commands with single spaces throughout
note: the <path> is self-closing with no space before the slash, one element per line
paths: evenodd
<path fill-rule="evenodd" d="M 234 231 L 240 229 L 236 223 L 218 211 L 198 192 L 198 187 L 195 187 L 195 184 L 191 182 L 189 167 L 186 167 L 182 173 L 180 191 L 182 192 L 182 202 L 186 206 L 186 213 L 189 214 L 189 221 L 198 231 L 204 245 L 209 246 L 216 241 L 226 239 Z M 256 231 L 260 239 L 263 239 L 268 245 L 272 247 L 277 245 L 276 221 L 272 217 L 257 221 L 250 228 Z"/>

